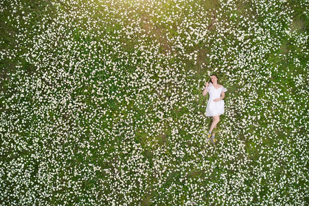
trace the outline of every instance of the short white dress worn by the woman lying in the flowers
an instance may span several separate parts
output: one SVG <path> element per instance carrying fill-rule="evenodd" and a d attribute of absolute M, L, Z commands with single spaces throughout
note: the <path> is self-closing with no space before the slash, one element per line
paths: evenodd
<path fill-rule="evenodd" d="M 227 91 L 225 87 L 220 87 L 219 89 L 214 88 L 214 85 L 209 82 L 207 91 L 209 93 L 209 100 L 207 102 L 207 107 L 206 107 L 206 116 L 207 117 L 213 117 L 213 116 L 218 116 L 222 115 L 225 113 L 225 101 L 220 100 L 218 102 L 214 102 L 214 99 L 220 98 L 221 92 L 222 91 Z"/>

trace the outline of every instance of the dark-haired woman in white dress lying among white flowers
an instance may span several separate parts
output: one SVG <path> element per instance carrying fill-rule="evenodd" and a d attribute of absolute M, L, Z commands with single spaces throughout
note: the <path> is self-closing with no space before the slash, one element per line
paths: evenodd
<path fill-rule="evenodd" d="M 211 80 L 206 82 L 205 86 L 203 96 L 207 95 L 207 92 L 209 92 L 209 100 L 207 102 L 205 114 L 207 117 L 213 118 L 207 138 L 212 144 L 215 144 L 215 133 L 211 135 L 211 132 L 220 121 L 220 115 L 225 112 L 225 101 L 223 98 L 225 98 L 225 91 L 227 91 L 227 89 L 221 84 L 218 84 L 218 76 L 215 74 L 211 75 Z"/>

